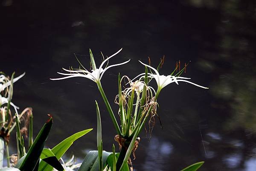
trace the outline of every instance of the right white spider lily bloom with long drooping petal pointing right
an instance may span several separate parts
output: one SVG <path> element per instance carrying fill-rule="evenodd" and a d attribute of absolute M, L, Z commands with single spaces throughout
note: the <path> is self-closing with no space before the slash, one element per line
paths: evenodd
<path fill-rule="evenodd" d="M 160 75 L 159 72 L 158 72 L 155 68 L 153 68 L 153 67 L 151 67 L 151 66 L 149 66 L 149 65 L 147 65 L 147 64 L 144 64 L 144 63 L 141 62 L 141 61 L 139 61 L 139 62 L 140 62 L 141 64 L 145 65 L 146 67 L 149 67 L 149 68 L 151 68 L 152 70 L 154 70 L 155 74 L 148 73 L 148 75 L 149 75 L 148 77 L 149 77 L 149 78 L 154 78 L 154 79 L 157 81 L 158 91 L 160 91 L 163 87 L 166 87 L 168 84 L 171 84 L 171 83 L 173 83 L 173 82 L 175 82 L 176 84 L 179 84 L 179 83 L 178 83 L 179 81 L 187 82 L 187 83 L 189 83 L 189 84 L 193 84 L 193 85 L 195 85 L 195 86 L 197 86 L 197 87 L 201 87 L 201 88 L 204 88 L 204 89 L 209 89 L 208 87 L 203 87 L 203 86 L 201 86 L 201 85 L 198 85 L 198 84 L 195 84 L 195 83 L 192 83 L 192 82 L 186 80 L 186 79 L 190 79 L 190 78 L 186 78 L 186 77 L 175 77 L 175 76 L 173 76 L 173 75 L 167 75 L 167 76 L 165 76 L 165 75 Z M 145 73 L 144 73 L 144 74 L 145 74 Z M 140 75 L 142 75 L 142 74 L 140 74 Z M 140 76 L 140 75 L 138 75 L 138 76 Z M 137 76 L 137 77 L 138 77 L 138 76 Z M 137 77 L 135 77 L 135 78 L 137 78 Z"/>

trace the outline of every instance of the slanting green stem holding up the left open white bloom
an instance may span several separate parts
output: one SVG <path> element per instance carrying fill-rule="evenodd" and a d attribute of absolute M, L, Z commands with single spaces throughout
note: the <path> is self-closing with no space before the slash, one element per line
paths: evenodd
<path fill-rule="evenodd" d="M 119 134 L 119 135 L 122 136 L 122 133 L 121 133 L 121 131 L 120 131 L 120 128 L 119 128 L 119 126 L 118 126 L 118 124 L 117 124 L 117 122 L 116 122 L 116 118 L 115 118 L 115 116 L 114 116 L 113 110 L 111 109 L 111 106 L 110 106 L 110 104 L 109 104 L 109 102 L 108 102 L 108 99 L 107 99 L 107 97 L 106 97 L 106 95 L 105 95 L 105 93 L 104 93 L 104 91 L 103 91 L 103 89 L 102 89 L 102 85 L 101 85 L 100 82 L 97 82 L 97 85 L 98 85 L 98 88 L 99 88 L 99 92 L 101 93 L 102 98 L 103 98 L 103 100 L 104 100 L 104 102 L 105 102 L 105 104 L 106 104 L 108 113 L 110 114 L 110 117 L 111 117 L 111 119 L 112 119 L 112 122 L 113 122 L 113 124 L 114 124 L 114 127 L 116 128 L 116 132 L 117 132 L 117 134 Z"/>

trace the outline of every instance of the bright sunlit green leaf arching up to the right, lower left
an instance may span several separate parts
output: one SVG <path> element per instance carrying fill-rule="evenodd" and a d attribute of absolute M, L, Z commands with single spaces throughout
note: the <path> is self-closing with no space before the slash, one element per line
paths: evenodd
<path fill-rule="evenodd" d="M 78 133 L 73 134 L 72 136 L 64 139 L 62 142 L 60 142 L 58 145 L 56 145 L 54 148 L 52 148 L 52 153 L 56 156 L 56 158 L 59 160 L 63 154 L 67 151 L 68 148 L 73 144 L 76 139 L 79 139 L 81 136 L 84 136 L 88 132 L 90 132 L 93 129 L 87 129 L 82 130 Z M 39 164 L 38 171 L 52 171 L 52 166 L 48 165 L 46 162 L 41 161 Z"/>

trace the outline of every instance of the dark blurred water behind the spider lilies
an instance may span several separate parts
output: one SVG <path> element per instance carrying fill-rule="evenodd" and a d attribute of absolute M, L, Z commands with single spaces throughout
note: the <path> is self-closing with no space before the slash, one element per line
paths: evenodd
<path fill-rule="evenodd" d="M 33 107 L 37 133 L 47 113 L 54 126 L 47 141 L 52 148 L 67 136 L 96 128 L 94 100 L 102 114 L 103 147 L 111 151 L 116 135 L 96 84 L 85 78 L 58 78 L 62 67 L 78 67 L 73 53 L 89 67 L 91 48 L 122 52 L 110 64 L 102 85 L 114 106 L 117 74 L 131 78 L 144 67 L 138 59 L 168 74 L 175 61 L 191 61 L 190 84 L 171 84 L 160 93 L 152 137 L 145 132 L 134 160 L 136 171 L 178 171 L 205 161 L 200 171 L 256 170 L 256 2 L 254 0 L 0 0 L 0 70 L 25 77 L 15 83 L 13 102 Z M 20 111 L 21 111 L 20 110 Z M 11 140 L 12 141 L 12 140 Z M 15 147 L 15 140 L 11 142 Z M 75 142 L 67 157 L 83 158 L 96 149 L 96 129 Z"/>

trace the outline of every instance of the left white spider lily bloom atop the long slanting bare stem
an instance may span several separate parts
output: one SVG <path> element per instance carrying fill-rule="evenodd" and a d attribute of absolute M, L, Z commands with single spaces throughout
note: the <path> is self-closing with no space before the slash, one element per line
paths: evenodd
<path fill-rule="evenodd" d="M 96 65 L 95 65 L 95 62 L 94 62 L 94 59 L 92 57 L 92 54 L 91 55 L 91 63 L 92 63 L 92 67 L 93 67 L 93 70 L 91 70 L 92 72 L 89 72 L 88 70 L 86 70 L 84 68 L 84 70 L 67 70 L 67 69 L 64 69 L 62 68 L 64 71 L 67 71 L 67 72 L 71 72 L 71 73 L 61 73 L 61 72 L 57 72 L 58 74 L 61 74 L 61 75 L 68 75 L 66 77 L 62 77 L 62 78 L 50 78 L 51 80 L 62 80 L 62 79 L 66 79 L 66 78 L 73 78 L 73 77 L 84 77 L 84 78 L 88 78 L 96 83 L 99 83 L 101 78 L 102 78 L 102 75 L 106 72 L 106 70 L 108 70 L 109 68 L 111 67 L 116 67 L 116 66 L 119 66 L 119 65 L 123 65 L 123 64 L 126 64 L 130 61 L 130 59 L 128 61 L 125 61 L 123 63 L 120 63 L 120 64 L 114 64 L 114 65 L 110 65 L 108 67 L 106 67 L 105 69 L 103 69 L 103 65 L 108 62 L 108 60 L 110 58 L 112 58 L 113 56 L 115 56 L 116 54 L 118 54 L 122 49 L 120 49 L 119 51 L 117 51 L 115 54 L 111 55 L 110 57 L 106 58 L 102 64 L 99 66 L 99 68 L 96 68 Z M 91 53 L 91 52 L 90 52 Z"/>

